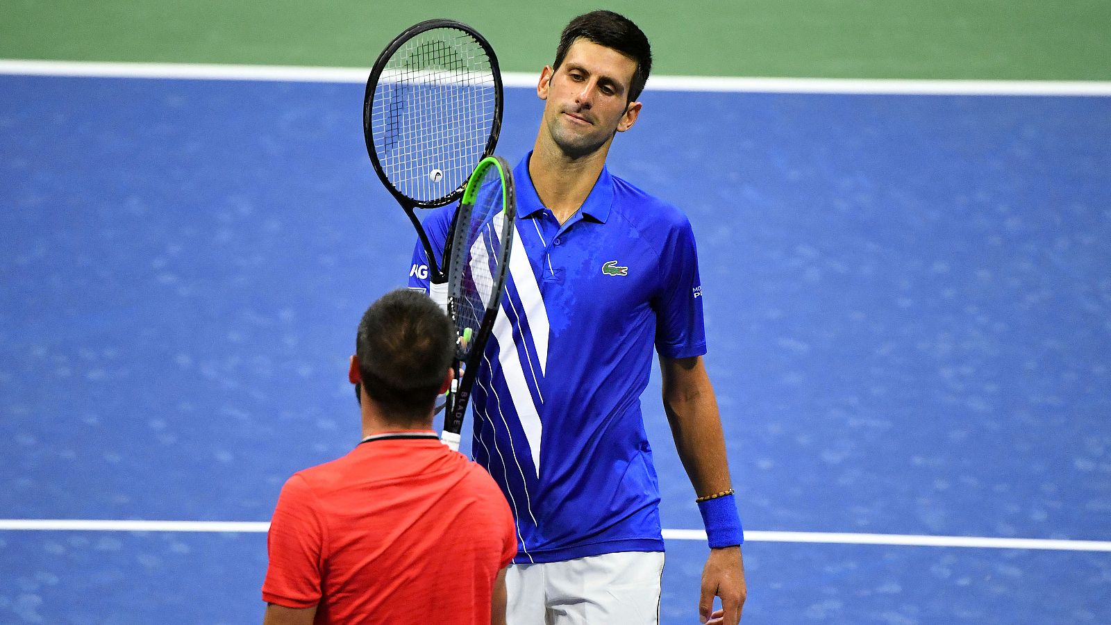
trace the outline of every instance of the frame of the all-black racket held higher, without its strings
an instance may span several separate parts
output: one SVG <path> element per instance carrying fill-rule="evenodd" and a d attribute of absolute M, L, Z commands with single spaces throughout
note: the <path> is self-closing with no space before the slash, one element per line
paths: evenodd
<path fill-rule="evenodd" d="M 428 234 L 424 231 L 424 227 L 421 225 L 420 219 L 417 217 L 416 209 L 437 208 L 458 200 L 460 197 L 462 197 L 463 190 L 467 188 L 467 181 L 463 181 L 457 189 L 452 190 L 451 192 L 433 200 L 417 200 L 404 195 L 403 192 L 398 190 L 398 188 L 393 185 L 393 182 L 390 181 L 389 177 L 386 175 L 386 171 L 382 169 L 382 163 L 378 158 L 378 152 L 374 150 L 373 129 L 371 128 L 371 119 L 372 119 L 371 109 L 374 102 L 374 91 L 378 88 L 378 81 L 382 76 L 382 71 L 386 70 L 386 66 L 390 62 L 390 59 L 393 57 L 393 53 L 400 50 L 401 47 L 404 46 L 406 42 L 408 42 L 410 39 L 417 37 L 422 32 L 438 28 L 449 28 L 466 32 L 468 36 L 472 37 L 479 43 L 479 46 L 482 47 L 482 50 L 486 52 L 487 58 L 490 60 L 490 72 L 493 75 L 493 88 L 494 88 L 494 115 L 493 115 L 493 123 L 490 127 L 490 136 L 487 139 L 486 148 L 482 151 L 482 158 L 487 158 L 491 153 L 493 153 L 493 149 L 498 145 L 498 137 L 501 133 L 501 116 L 503 108 L 503 92 L 502 92 L 503 89 L 501 82 L 501 69 L 500 66 L 498 65 L 498 56 L 494 54 L 493 48 L 490 46 L 490 42 L 487 41 L 486 38 L 482 37 L 477 30 L 467 26 L 463 22 L 456 20 L 438 18 L 416 23 L 403 30 L 400 34 L 394 37 L 389 44 L 387 44 L 386 49 L 382 50 L 382 52 L 378 56 L 378 59 L 374 60 L 374 65 L 370 70 L 370 76 L 367 78 L 367 91 L 363 95 L 363 103 L 362 103 L 362 131 L 363 131 L 363 138 L 366 139 L 367 142 L 367 153 L 370 156 L 370 162 L 374 167 L 374 172 L 378 175 L 379 180 L 382 181 L 382 185 L 386 187 L 386 189 L 390 191 L 390 195 L 392 195 L 393 198 L 398 201 L 398 204 L 401 205 L 401 208 L 404 209 L 406 215 L 409 216 L 409 220 L 413 225 L 413 228 L 417 229 L 417 236 L 420 239 L 421 246 L 424 247 L 424 255 L 428 257 L 429 281 L 436 284 L 442 284 L 448 279 L 447 259 L 449 258 L 450 254 L 452 234 L 454 230 L 454 221 L 452 221 L 452 231 L 448 232 L 448 239 L 447 239 L 448 247 L 444 248 L 442 257 L 443 267 L 441 267 L 440 266 L 441 264 L 438 264 L 436 261 L 436 255 L 433 254 L 432 250 L 432 244 L 429 242 Z"/>

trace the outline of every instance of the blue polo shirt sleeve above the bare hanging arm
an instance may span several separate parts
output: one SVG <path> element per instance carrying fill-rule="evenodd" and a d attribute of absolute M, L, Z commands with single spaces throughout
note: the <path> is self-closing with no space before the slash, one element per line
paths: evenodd
<path fill-rule="evenodd" d="M 705 354 L 702 281 L 690 221 L 683 219 L 668 235 L 661 259 L 662 281 L 653 300 L 655 349 L 665 358 Z"/>

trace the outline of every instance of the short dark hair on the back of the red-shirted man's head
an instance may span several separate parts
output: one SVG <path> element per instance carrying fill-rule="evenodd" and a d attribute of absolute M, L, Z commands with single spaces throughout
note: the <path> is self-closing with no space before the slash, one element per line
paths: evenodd
<path fill-rule="evenodd" d="M 431 298 L 411 289 L 372 304 L 356 336 L 362 386 L 398 423 L 431 414 L 454 350 L 454 325 Z"/>

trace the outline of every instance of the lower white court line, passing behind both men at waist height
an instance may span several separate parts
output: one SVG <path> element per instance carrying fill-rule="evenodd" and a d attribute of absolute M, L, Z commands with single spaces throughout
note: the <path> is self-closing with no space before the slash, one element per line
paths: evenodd
<path fill-rule="evenodd" d="M 32 532 L 243 532 L 262 533 L 270 524 L 252 520 L 110 520 L 0 518 L 2 530 Z M 705 540 L 701 529 L 664 529 L 670 540 Z M 1059 552 L 1111 552 L 1107 540 L 1047 538 L 988 538 L 978 536 L 924 536 L 908 534 L 845 534 L 829 532 L 744 533 L 750 543 L 824 543 L 831 545 L 888 545 L 900 547 L 969 547 L 993 549 L 1043 549 Z"/>

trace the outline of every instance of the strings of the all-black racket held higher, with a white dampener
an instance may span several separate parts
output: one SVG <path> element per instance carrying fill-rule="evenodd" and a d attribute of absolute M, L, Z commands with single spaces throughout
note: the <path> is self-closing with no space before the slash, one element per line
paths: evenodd
<path fill-rule="evenodd" d="M 462 187 L 493 130 L 496 91 L 490 59 L 471 36 L 446 28 L 407 41 L 387 61 L 371 105 L 390 183 L 421 202 Z"/>

